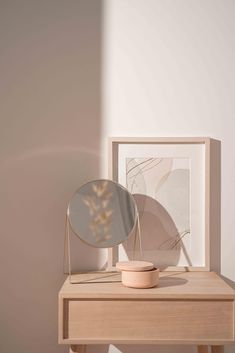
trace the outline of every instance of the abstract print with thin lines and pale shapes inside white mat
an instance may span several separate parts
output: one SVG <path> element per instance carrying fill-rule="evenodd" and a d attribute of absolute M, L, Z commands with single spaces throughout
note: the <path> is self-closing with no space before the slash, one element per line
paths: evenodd
<path fill-rule="evenodd" d="M 185 264 L 190 265 L 190 158 L 126 158 L 125 165 L 144 248 L 165 250 L 166 255 L 181 249 Z"/>

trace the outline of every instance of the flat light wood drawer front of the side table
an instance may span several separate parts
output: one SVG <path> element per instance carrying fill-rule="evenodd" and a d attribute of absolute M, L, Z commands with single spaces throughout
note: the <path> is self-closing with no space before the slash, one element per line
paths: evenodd
<path fill-rule="evenodd" d="M 234 339 L 232 300 L 64 299 L 63 316 L 63 339 Z"/>

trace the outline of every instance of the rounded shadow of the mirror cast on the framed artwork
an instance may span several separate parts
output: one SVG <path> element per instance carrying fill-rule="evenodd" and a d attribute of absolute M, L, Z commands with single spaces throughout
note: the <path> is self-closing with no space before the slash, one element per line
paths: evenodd
<path fill-rule="evenodd" d="M 153 262 L 161 270 L 167 265 L 176 266 L 183 244 L 174 220 L 156 199 L 142 194 L 135 194 L 134 199 L 140 216 L 144 259 Z M 129 259 L 138 259 L 139 246 L 136 251 L 135 234 L 123 243 L 123 247 Z"/>

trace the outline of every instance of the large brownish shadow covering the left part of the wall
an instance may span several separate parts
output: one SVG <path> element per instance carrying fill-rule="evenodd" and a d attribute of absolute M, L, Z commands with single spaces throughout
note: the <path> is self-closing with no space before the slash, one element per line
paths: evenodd
<path fill-rule="evenodd" d="M 64 220 L 99 177 L 101 0 L 1 4 L 0 351 L 58 353 Z M 102 266 L 76 239 L 77 265 Z"/>

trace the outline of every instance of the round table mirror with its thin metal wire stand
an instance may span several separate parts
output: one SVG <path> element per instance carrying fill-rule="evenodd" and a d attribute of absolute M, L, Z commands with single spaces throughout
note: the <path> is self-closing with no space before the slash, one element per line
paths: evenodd
<path fill-rule="evenodd" d="M 66 212 L 64 273 L 68 274 L 70 283 L 74 283 L 73 279 L 78 277 L 81 281 L 84 278 L 90 281 L 88 277 L 92 273 L 94 277 L 93 271 L 86 272 L 85 277 L 84 273 L 83 276 L 81 273 L 72 273 L 71 232 L 92 247 L 108 249 L 107 267 L 99 271 L 103 277 L 104 274 L 109 277 L 108 274 L 112 272 L 117 274 L 117 258 L 112 250 L 117 249 L 118 253 L 118 245 L 125 243 L 131 235 L 134 236 L 132 260 L 136 254 L 137 239 L 140 260 L 142 258 L 140 221 L 135 199 L 126 188 L 112 180 L 92 180 L 83 184 L 73 194 Z"/>

